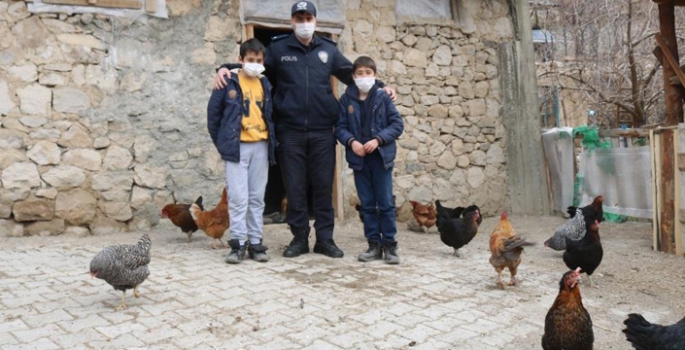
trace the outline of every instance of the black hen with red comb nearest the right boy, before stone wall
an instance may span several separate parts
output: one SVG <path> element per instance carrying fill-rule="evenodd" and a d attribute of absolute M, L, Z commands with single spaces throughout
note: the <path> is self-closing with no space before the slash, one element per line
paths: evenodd
<path fill-rule="evenodd" d="M 440 240 L 454 249 L 455 256 L 459 256 L 459 248 L 469 244 L 478 233 L 480 210 L 464 210 L 464 217 L 454 218 L 453 209 L 443 207 L 440 201 L 435 201 L 435 208 L 438 213 L 436 225 L 440 232 Z"/>

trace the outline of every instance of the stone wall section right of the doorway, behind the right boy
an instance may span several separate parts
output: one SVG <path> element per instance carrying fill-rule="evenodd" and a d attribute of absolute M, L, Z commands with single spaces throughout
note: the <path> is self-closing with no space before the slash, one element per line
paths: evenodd
<path fill-rule="evenodd" d="M 512 37 L 504 1 L 463 1 L 461 25 L 396 23 L 394 1 L 348 1 L 340 45 L 350 59 L 377 59 L 396 88 L 405 131 L 395 165 L 399 219 L 409 200 L 508 207 L 497 46 Z M 358 202 L 350 170 L 345 204 Z M 346 216 L 356 212 L 346 207 Z"/>

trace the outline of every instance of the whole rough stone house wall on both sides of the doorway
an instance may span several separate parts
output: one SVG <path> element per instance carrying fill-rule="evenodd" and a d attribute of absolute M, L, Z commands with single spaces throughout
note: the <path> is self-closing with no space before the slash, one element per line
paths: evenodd
<path fill-rule="evenodd" d="M 214 68 L 238 54 L 238 3 L 167 0 L 168 20 L 132 22 L 0 0 L 0 236 L 147 229 L 165 203 L 216 203 L 205 108 Z M 341 47 L 377 58 L 400 95 L 404 211 L 410 198 L 507 206 L 495 48 L 511 24 L 503 0 L 480 3 L 458 29 L 396 25 L 394 1 L 347 2 Z"/>

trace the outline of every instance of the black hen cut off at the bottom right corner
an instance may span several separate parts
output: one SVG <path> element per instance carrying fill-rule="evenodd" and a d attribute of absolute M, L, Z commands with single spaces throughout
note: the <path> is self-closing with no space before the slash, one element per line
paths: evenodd
<path fill-rule="evenodd" d="M 623 324 L 623 333 L 637 350 L 685 349 L 685 317 L 674 325 L 661 326 L 649 323 L 640 314 L 630 314 Z"/>

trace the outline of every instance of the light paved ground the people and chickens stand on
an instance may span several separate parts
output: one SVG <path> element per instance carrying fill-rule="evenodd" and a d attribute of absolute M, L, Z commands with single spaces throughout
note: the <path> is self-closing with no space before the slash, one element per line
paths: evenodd
<path fill-rule="evenodd" d="M 526 249 L 520 285 L 495 286 L 488 263 L 488 218 L 462 257 L 437 234 L 400 224 L 402 264 L 359 263 L 361 224 L 338 225 L 343 259 L 280 256 L 284 225 L 266 227 L 272 260 L 223 262 L 197 232 L 191 243 L 165 224 L 151 232 L 151 274 L 142 297 L 116 312 L 120 292 L 87 274 L 104 246 L 134 243 L 141 232 L 0 241 L 2 349 L 539 349 L 544 318 L 567 270 L 561 253 Z M 541 243 L 561 218 L 512 218 Z M 605 258 L 582 286 L 595 348 L 630 349 L 621 333 L 630 312 L 672 324 L 685 315 L 685 259 L 651 250 L 649 224 L 602 223 Z M 313 242 L 312 242 L 313 244 Z"/>

